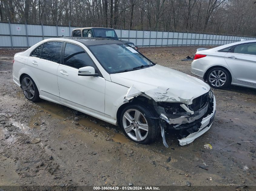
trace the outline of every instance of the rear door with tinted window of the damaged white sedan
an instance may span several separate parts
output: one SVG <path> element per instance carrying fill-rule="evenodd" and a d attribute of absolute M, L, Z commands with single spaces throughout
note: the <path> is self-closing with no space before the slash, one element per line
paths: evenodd
<path fill-rule="evenodd" d="M 29 56 L 27 65 L 40 94 L 59 100 L 57 70 L 63 42 L 50 41 L 38 46 Z"/>

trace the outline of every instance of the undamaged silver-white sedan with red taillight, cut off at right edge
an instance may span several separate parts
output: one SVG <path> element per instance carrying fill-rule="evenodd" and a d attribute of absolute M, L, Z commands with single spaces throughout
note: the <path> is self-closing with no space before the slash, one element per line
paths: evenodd
<path fill-rule="evenodd" d="M 256 40 L 197 49 L 191 72 L 216 89 L 230 84 L 256 88 Z"/>

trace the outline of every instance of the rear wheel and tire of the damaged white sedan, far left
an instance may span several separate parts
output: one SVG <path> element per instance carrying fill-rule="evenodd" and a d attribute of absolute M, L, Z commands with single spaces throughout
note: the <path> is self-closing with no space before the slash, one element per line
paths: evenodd
<path fill-rule="evenodd" d="M 21 88 L 25 97 L 33 102 L 40 100 L 39 91 L 34 80 L 29 75 L 24 75 L 21 80 Z"/>

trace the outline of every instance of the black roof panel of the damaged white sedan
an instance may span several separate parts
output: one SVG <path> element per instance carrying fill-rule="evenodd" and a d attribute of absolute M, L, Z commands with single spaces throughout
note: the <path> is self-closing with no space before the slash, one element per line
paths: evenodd
<path fill-rule="evenodd" d="M 85 46 L 102 45 L 102 44 L 125 44 L 119 40 L 97 37 L 62 37 L 64 39 L 75 40 L 83 43 Z"/>

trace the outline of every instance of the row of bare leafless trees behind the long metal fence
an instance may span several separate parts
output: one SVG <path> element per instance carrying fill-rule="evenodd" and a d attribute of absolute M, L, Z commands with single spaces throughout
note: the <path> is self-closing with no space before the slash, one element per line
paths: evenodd
<path fill-rule="evenodd" d="M 0 21 L 256 35 L 255 0 L 0 0 Z"/>

